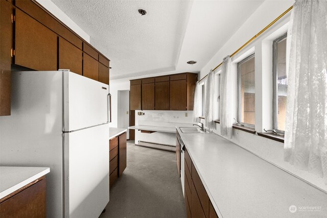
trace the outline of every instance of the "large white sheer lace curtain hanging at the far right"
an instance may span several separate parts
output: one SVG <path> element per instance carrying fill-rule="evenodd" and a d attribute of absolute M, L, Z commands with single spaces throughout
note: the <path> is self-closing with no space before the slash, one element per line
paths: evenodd
<path fill-rule="evenodd" d="M 327 183 L 327 2 L 296 1 L 291 42 L 284 159 Z"/>

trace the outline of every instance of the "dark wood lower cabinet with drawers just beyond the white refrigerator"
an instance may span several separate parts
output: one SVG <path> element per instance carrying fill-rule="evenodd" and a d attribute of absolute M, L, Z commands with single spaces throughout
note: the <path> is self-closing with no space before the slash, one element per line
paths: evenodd
<path fill-rule="evenodd" d="M 127 166 L 127 133 L 109 140 L 109 188 L 123 175 Z"/>

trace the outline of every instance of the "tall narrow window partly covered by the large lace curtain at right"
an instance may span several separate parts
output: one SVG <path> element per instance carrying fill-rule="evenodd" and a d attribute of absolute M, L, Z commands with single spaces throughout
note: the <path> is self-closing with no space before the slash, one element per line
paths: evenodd
<path fill-rule="evenodd" d="M 273 41 L 273 129 L 285 131 L 287 34 Z"/>

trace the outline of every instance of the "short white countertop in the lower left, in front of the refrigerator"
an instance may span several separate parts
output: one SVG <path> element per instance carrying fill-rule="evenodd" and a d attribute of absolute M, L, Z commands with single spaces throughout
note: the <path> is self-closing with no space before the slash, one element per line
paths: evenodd
<path fill-rule="evenodd" d="M 0 166 L 0 199 L 49 172 L 49 167 Z"/>

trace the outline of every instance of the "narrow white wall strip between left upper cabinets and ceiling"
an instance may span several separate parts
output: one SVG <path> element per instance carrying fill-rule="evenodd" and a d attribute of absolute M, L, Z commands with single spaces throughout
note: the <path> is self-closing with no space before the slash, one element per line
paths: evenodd
<path fill-rule="evenodd" d="M 41 6 L 61 20 L 67 27 L 71 28 L 75 33 L 90 43 L 90 36 L 84 32 L 71 18 L 69 18 L 62 10 L 60 10 L 50 0 L 36 0 Z"/>

